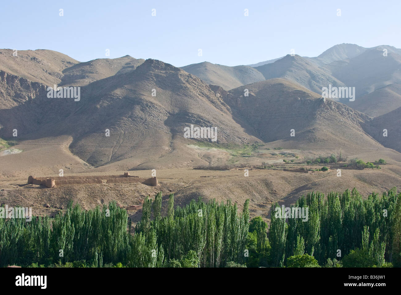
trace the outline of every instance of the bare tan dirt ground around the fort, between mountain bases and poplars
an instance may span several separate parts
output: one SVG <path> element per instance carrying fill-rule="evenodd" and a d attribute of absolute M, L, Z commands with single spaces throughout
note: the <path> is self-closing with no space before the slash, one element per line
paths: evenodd
<path fill-rule="evenodd" d="M 63 138 L 63 140 L 66 139 Z M 283 170 L 297 167 L 318 169 L 322 165 L 284 163 L 283 159 L 300 161 L 293 156 L 300 155 L 298 157 L 308 158 L 326 153 L 286 149 L 266 150 L 265 146 L 260 146 L 246 157 L 241 153 L 237 155 L 237 151 L 229 149 L 196 147 L 198 157 L 209 158 L 209 161 L 214 159 L 212 162 L 219 164 L 231 160 L 235 164 L 231 164 L 229 170 L 223 171 L 193 169 L 192 167 L 156 169 L 158 187 L 132 182 L 76 185 L 57 185 L 56 183 L 56 187 L 49 189 L 26 183 L 29 175 L 57 177 L 60 166 L 52 165 L 55 161 L 52 157 L 58 156 L 58 163 L 64 163 L 62 167 L 68 167 L 68 162 L 73 164 L 70 165 L 71 169 L 64 171 L 64 175 L 68 176 L 120 175 L 126 171 L 115 170 L 118 164 L 114 163 L 112 165 L 114 169 L 105 173 L 107 167 L 102 166 L 99 169 L 85 165 L 85 162 L 69 153 L 68 148 L 65 149 L 64 145 L 60 146 L 51 141 L 42 146 L 23 143 L 18 145 L 18 149 L 22 149 L 24 152 L 0 157 L 0 204 L 7 204 L 9 207 L 32 207 L 34 215 L 54 216 L 57 212 L 65 210 L 70 199 L 78 202 L 85 209 L 95 208 L 103 203 L 107 204 L 111 200 L 117 201 L 120 206 L 124 207 L 141 205 L 146 195 L 154 198 L 154 195 L 161 191 L 164 209 L 170 193 L 174 193 L 175 205 L 179 206 L 185 205 L 191 199 L 202 197 L 205 200 L 216 199 L 224 202 L 231 199 L 241 210 L 245 200 L 250 199 L 251 217 L 262 216 L 268 220 L 272 203 L 290 205 L 309 191 L 322 191 L 327 194 L 330 191 L 342 192 L 356 187 L 364 197 L 367 197 L 373 191 L 381 194 L 391 187 L 401 184 L 401 154 L 390 149 L 359 151 L 359 155 L 352 155 L 365 161 L 384 158 L 388 164 L 381 165 L 381 169 L 342 169 L 341 177 L 338 177 L 336 164 L 324 164 L 330 168 L 329 171 L 300 173 Z M 46 155 L 49 155 L 49 149 L 54 153 L 50 154 L 49 162 L 47 162 L 45 159 Z M 43 151 L 47 151 L 47 153 L 43 153 Z M 216 161 L 216 159 L 221 159 L 221 161 Z M 38 165 L 38 162 L 41 165 Z M 265 163 L 267 168 L 263 169 L 261 162 Z M 233 165 L 237 167 L 233 168 Z M 259 168 L 256 165 L 259 165 Z M 244 169 L 249 170 L 249 176 L 245 176 Z M 79 170 L 81 173 L 78 173 Z M 149 178 L 152 176 L 152 171 L 150 169 L 136 170 L 130 171 L 130 174 Z M 134 222 L 140 220 L 142 214 L 141 210 L 128 213 Z"/>

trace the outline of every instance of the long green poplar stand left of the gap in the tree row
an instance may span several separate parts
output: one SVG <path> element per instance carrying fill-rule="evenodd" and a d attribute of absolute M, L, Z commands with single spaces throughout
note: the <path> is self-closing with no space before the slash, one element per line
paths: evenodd
<path fill-rule="evenodd" d="M 170 194 L 167 216 L 162 217 L 162 193 L 158 193 L 154 202 L 148 197 L 144 200 L 135 234 L 131 234 L 127 211 L 114 201 L 93 210 L 83 210 L 70 201 L 65 214 L 54 219 L 0 218 L 0 266 L 81 262 L 73 265 L 164 267 L 175 261 L 184 266 L 219 267 L 230 261 L 244 263 L 248 204 L 249 200 L 241 214 L 231 201 L 217 204 L 201 199 L 174 210 L 174 195 Z"/>

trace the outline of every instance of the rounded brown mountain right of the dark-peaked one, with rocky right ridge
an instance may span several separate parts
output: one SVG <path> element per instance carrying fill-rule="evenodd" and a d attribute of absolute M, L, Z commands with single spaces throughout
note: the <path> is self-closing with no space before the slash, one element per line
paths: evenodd
<path fill-rule="evenodd" d="M 249 90 L 248 97 L 244 88 Z M 368 116 L 284 79 L 236 88 L 225 102 L 264 142 L 282 140 L 284 147 L 292 149 L 379 146 L 360 126 Z M 295 136 L 290 136 L 292 129 Z"/>

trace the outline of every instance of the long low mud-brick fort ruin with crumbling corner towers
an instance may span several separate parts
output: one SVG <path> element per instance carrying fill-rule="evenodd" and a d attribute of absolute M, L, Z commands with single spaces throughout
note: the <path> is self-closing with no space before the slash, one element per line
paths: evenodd
<path fill-rule="evenodd" d="M 28 184 L 44 185 L 46 187 L 55 187 L 56 185 L 73 184 L 96 184 L 96 183 L 115 183 L 115 182 L 140 182 L 146 185 L 157 186 L 156 177 L 142 178 L 131 176 L 129 172 L 123 175 L 96 175 L 96 176 L 58 176 L 58 177 L 28 177 Z"/>

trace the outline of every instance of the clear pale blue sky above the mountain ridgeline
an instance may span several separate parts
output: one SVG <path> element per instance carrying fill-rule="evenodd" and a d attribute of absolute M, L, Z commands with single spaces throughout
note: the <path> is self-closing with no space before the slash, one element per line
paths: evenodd
<path fill-rule="evenodd" d="M 400 0 L 2 0 L 0 48 L 51 49 L 78 61 L 105 58 L 110 49 L 109 58 L 128 54 L 175 66 L 247 65 L 291 49 L 313 57 L 340 43 L 401 48 L 400 13 Z"/>

